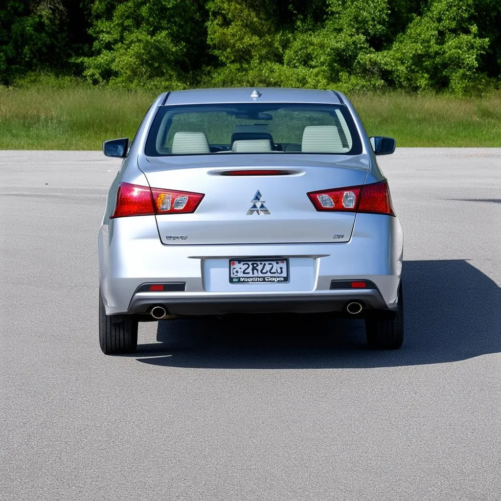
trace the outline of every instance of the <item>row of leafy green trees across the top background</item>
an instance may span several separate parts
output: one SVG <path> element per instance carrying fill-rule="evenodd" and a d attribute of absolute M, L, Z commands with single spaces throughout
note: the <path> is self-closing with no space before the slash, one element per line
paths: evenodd
<path fill-rule="evenodd" d="M 479 93 L 501 0 L 2 0 L 0 83 L 30 72 L 152 90 Z"/>

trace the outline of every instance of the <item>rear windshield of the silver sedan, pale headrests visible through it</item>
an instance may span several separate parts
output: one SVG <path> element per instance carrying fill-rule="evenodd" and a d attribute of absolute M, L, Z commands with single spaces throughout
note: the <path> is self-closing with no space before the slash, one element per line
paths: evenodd
<path fill-rule="evenodd" d="M 162 106 L 145 151 L 148 156 L 361 152 L 345 106 L 285 103 Z"/>

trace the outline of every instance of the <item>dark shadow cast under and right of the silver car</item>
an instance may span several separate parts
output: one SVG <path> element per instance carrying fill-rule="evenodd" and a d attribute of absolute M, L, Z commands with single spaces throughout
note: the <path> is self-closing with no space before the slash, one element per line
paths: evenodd
<path fill-rule="evenodd" d="M 501 289 L 466 261 L 406 261 L 405 340 L 371 350 L 363 320 L 329 315 L 238 315 L 158 323 L 161 343 L 137 360 L 224 369 L 364 368 L 433 364 L 501 352 Z"/>

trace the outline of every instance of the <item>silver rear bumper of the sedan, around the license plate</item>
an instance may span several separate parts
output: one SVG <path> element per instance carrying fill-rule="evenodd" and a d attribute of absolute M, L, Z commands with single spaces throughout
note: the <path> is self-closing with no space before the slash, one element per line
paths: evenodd
<path fill-rule="evenodd" d="M 110 220 L 99 234 L 100 284 L 107 315 L 147 313 L 162 305 L 170 314 L 342 311 L 350 301 L 394 309 L 402 266 L 398 219 L 358 214 L 344 243 L 165 245 L 154 216 Z M 233 285 L 228 260 L 290 258 L 288 284 Z M 368 280 L 376 289 L 331 290 L 332 280 Z M 183 282 L 180 292 L 137 292 L 145 283 Z"/>

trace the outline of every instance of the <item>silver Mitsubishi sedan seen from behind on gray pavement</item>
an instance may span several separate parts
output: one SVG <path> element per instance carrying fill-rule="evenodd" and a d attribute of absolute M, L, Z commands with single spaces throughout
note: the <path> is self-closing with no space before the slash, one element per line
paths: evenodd
<path fill-rule="evenodd" d="M 129 144 L 99 232 L 99 339 L 137 347 L 139 321 L 332 312 L 374 348 L 403 341 L 403 238 L 376 155 L 339 92 L 161 94 Z"/>

